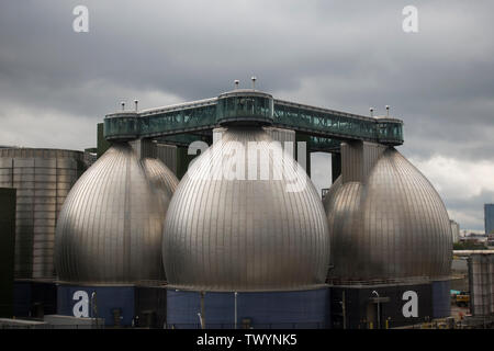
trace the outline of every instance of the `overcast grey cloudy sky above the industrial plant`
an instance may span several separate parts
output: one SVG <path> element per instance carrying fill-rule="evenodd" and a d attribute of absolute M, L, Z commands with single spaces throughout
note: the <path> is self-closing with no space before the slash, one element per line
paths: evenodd
<path fill-rule="evenodd" d="M 72 10 L 89 9 L 89 33 Z M 402 30 L 405 5 L 418 33 Z M 215 97 L 233 80 L 276 98 L 405 123 L 398 147 L 462 229 L 494 202 L 493 1 L 0 2 L 0 145 L 83 149 L 124 100 Z M 329 157 L 312 178 L 330 184 Z"/>

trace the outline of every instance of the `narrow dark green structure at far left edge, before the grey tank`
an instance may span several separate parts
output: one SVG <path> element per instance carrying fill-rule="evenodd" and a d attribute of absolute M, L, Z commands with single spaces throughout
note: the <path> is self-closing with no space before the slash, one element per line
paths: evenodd
<path fill-rule="evenodd" d="M 12 317 L 14 248 L 15 248 L 15 189 L 0 188 L 0 317 Z"/>

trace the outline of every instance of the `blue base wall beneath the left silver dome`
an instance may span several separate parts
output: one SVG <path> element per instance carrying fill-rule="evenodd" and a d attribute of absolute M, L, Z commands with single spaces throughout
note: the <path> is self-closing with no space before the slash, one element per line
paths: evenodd
<path fill-rule="evenodd" d="M 57 313 L 64 316 L 74 316 L 74 305 L 78 302 L 74 299 L 77 291 L 88 293 L 89 299 L 91 294 L 97 293 L 98 317 L 104 318 L 106 326 L 114 325 L 112 310 L 121 309 L 121 325 L 131 326 L 134 318 L 134 287 L 133 286 L 77 286 L 77 285 L 58 285 L 57 294 Z M 91 306 L 89 306 L 89 317 L 94 317 Z"/>

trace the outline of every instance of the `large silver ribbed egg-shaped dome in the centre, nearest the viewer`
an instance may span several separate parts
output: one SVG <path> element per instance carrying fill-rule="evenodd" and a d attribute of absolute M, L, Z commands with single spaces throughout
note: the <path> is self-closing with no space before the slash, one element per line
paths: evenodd
<path fill-rule="evenodd" d="M 247 150 L 249 141 L 258 141 L 266 151 L 272 138 L 260 127 L 231 127 L 180 182 L 168 208 L 162 242 L 170 285 L 195 291 L 279 291 L 325 282 L 329 238 L 324 208 L 307 174 L 302 169 L 295 172 L 293 158 L 270 158 L 271 169 L 287 166 L 281 180 L 207 177 L 210 169 L 218 170 L 214 165 L 224 165 L 224 155 L 239 157 L 233 149 L 242 145 Z M 244 155 L 247 174 L 254 157 Z M 300 180 L 306 186 L 287 191 L 289 182 Z"/>

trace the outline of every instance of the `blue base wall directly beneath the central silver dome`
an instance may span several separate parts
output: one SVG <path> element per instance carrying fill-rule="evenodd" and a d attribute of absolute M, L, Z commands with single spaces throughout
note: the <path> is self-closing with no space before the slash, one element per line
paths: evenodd
<path fill-rule="evenodd" d="M 168 290 L 169 328 L 199 328 L 199 292 Z M 330 325 L 329 288 L 299 292 L 238 293 L 237 327 L 250 319 L 254 328 L 327 328 Z M 206 328 L 234 328 L 235 294 L 205 293 Z"/>

